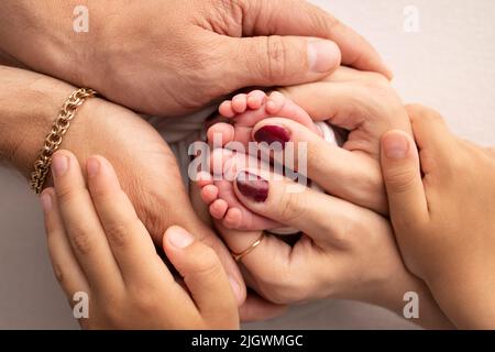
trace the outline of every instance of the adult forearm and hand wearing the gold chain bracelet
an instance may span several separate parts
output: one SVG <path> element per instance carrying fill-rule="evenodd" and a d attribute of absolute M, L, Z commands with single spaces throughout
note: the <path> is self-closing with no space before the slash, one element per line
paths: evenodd
<path fill-rule="evenodd" d="M 44 136 L 75 88 L 7 67 L 0 67 L 0 79 L 6 87 L 0 92 L 0 161 L 7 160 L 29 177 Z M 89 156 L 105 155 L 155 243 L 162 243 L 170 226 L 183 226 L 217 252 L 239 284 L 239 302 L 244 300 L 238 266 L 221 240 L 196 216 L 173 153 L 148 123 L 128 109 L 88 99 L 78 109 L 62 147 L 72 151 L 85 169 Z"/>

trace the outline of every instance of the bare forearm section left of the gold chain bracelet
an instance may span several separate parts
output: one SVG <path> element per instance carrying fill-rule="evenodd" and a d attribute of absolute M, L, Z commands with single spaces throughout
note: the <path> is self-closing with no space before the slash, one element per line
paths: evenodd
<path fill-rule="evenodd" d="M 0 66 L 0 161 L 28 176 L 52 122 L 74 87 Z"/>

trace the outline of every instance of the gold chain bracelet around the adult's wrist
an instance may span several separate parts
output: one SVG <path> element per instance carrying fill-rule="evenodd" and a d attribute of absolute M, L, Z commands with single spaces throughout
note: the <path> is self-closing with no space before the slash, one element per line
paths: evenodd
<path fill-rule="evenodd" d="M 77 109 L 87 98 L 96 97 L 97 92 L 89 88 L 80 88 L 74 91 L 62 107 L 58 118 L 52 125 L 52 131 L 46 135 L 45 144 L 40 151 L 40 156 L 34 163 L 34 170 L 31 173 L 31 188 L 41 194 L 43 185 L 52 165 L 53 154 L 61 147 L 63 136 L 70 127 L 70 121 L 76 116 Z"/>

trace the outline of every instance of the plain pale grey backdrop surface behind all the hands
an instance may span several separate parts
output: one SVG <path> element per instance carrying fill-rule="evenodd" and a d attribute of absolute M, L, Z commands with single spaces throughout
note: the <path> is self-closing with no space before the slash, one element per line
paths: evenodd
<path fill-rule="evenodd" d="M 452 129 L 495 144 L 495 1 L 317 0 L 366 36 L 393 66 L 407 102 L 440 110 Z M 420 32 L 403 30 L 406 6 L 420 13 Z M 295 308 L 261 328 L 410 328 L 374 307 L 321 301 Z M 75 329 L 53 278 L 41 211 L 26 183 L 0 168 L 0 328 Z"/>

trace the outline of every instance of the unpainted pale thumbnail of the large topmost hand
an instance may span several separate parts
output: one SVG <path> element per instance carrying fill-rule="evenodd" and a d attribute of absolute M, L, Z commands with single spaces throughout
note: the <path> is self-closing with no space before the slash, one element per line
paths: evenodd
<path fill-rule="evenodd" d="M 336 43 L 324 40 L 308 42 L 309 68 L 315 73 L 327 73 L 340 64 L 340 50 Z"/>

